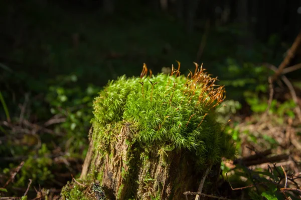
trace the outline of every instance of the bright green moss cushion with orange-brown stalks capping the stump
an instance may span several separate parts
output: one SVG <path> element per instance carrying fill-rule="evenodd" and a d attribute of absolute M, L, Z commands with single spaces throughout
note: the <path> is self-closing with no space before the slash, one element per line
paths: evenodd
<path fill-rule="evenodd" d="M 135 129 L 132 140 L 144 147 L 187 149 L 205 165 L 234 156 L 231 135 L 221 130 L 214 112 L 225 97 L 224 86 L 217 85 L 217 77 L 211 77 L 202 65 L 195 63 L 194 72 L 185 76 L 178 64 L 170 74 L 158 75 L 143 64 L 140 77 L 123 75 L 109 81 L 94 100 L 93 127 L 101 130 L 92 135 L 94 143 L 99 141 L 97 149 L 116 137 L 111 127 L 126 122 Z"/>

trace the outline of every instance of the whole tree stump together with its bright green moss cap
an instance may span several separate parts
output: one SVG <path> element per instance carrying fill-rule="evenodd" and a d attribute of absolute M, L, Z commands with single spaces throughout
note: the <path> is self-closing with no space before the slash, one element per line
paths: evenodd
<path fill-rule="evenodd" d="M 99 181 L 110 198 L 183 199 L 206 168 L 234 156 L 213 111 L 224 87 L 202 66 L 179 69 L 152 75 L 144 64 L 140 77 L 108 83 L 94 101 L 81 179 Z"/>

